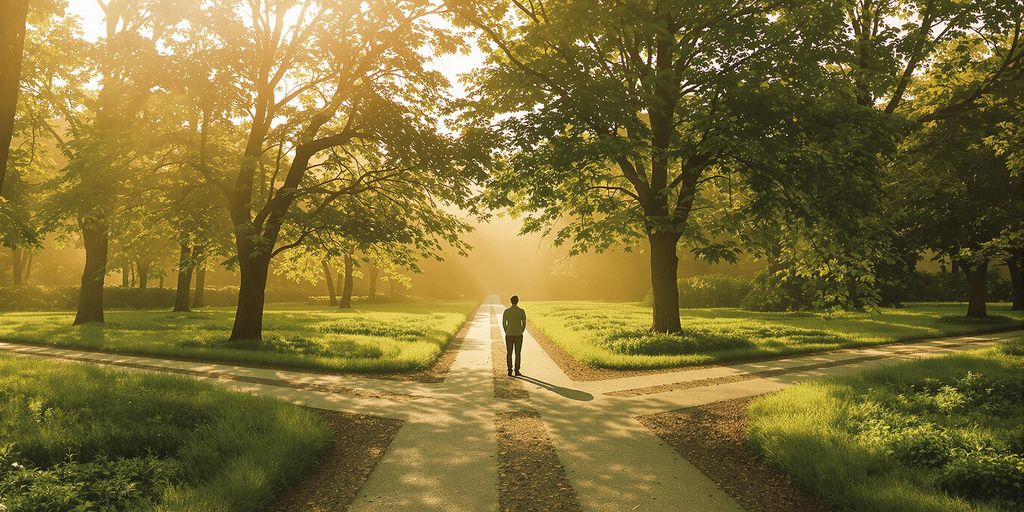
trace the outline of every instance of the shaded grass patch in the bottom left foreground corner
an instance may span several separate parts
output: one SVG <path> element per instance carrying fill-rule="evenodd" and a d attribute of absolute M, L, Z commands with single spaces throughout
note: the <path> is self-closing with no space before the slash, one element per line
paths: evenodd
<path fill-rule="evenodd" d="M 274 399 L 0 356 L 0 510 L 262 510 L 330 440 Z"/>

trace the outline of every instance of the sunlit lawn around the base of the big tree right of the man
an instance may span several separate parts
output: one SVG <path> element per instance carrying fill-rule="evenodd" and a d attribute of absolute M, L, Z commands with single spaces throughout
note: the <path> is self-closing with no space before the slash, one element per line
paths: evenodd
<path fill-rule="evenodd" d="M 707 365 L 894 341 L 1024 329 L 1024 314 L 989 304 L 991 317 L 966 318 L 965 304 L 919 303 L 878 312 L 756 312 L 683 309 L 683 333 L 651 334 L 639 302 L 524 303 L 529 322 L 581 362 L 617 370 Z"/>

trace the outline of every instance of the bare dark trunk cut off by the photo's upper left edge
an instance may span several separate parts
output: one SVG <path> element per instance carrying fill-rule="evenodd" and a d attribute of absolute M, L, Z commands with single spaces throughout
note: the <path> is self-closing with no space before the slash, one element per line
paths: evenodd
<path fill-rule="evenodd" d="M 0 0 L 0 194 L 7 174 L 10 140 L 20 88 L 22 53 L 29 0 Z"/>

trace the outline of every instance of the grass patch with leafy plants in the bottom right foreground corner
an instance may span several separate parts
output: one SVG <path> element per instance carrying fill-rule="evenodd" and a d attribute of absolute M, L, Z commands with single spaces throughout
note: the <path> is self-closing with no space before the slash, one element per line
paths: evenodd
<path fill-rule="evenodd" d="M 836 510 L 1024 510 L 1024 338 L 794 386 L 746 435 Z"/>

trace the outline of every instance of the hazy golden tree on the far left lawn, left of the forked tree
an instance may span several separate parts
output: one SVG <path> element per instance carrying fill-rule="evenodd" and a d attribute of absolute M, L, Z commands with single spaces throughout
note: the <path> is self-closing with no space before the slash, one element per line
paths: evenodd
<path fill-rule="evenodd" d="M 70 94 L 47 94 L 61 113 L 61 140 L 69 164 L 51 186 L 48 216 L 70 219 L 85 247 L 75 324 L 103 321 L 103 281 L 111 224 L 131 185 L 167 163 L 146 140 L 147 100 L 164 74 L 160 42 L 178 24 L 190 2 L 177 0 L 97 0 L 105 33 L 79 55 L 65 74 L 76 80 L 54 84 Z M 74 43 L 74 42 L 73 42 Z M 77 41 L 78 45 L 85 45 Z M 92 84 L 98 84 L 93 87 Z M 154 143 L 156 142 L 156 143 Z"/>

